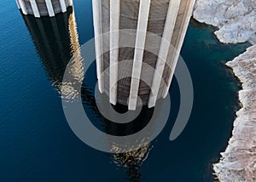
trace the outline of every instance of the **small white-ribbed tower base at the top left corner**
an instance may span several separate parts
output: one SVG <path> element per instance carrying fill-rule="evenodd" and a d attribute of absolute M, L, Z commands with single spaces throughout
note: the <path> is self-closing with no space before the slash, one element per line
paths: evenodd
<path fill-rule="evenodd" d="M 22 14 L 33 14 L 36 18 L 41 16 L 53 17 L 64 13 L 67 7 L 73 6 L 73 0 L 15 0 Z"/>

